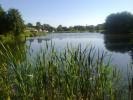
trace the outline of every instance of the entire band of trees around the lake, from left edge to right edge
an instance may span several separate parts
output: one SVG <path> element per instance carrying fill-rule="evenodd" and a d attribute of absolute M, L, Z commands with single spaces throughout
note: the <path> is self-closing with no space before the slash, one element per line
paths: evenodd
<path fill-rule="evenodd" d="M 129 12 L 114 13 L 107 16 L 105 23 L 94 25 L 76 25 L 53 27 L 49 24 L 41 24 L 36 22 L 24 24 L 24 20 L 17 9 L 9 9 L 5 11 L 0 5 L 0 34 L 19 35 L 24 32 L 25 28 L 33 28 L 38 31 L 48 32 L 103 32 L 111 34 L 127 34 L 133 33 L 133 14 Z"/>

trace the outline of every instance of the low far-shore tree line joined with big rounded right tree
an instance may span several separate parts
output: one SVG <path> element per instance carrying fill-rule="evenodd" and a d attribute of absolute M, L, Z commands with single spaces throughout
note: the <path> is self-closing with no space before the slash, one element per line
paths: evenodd
<path fill-rule="evenodd" d="M 62 26 L 59 25 L 57 28 L 52 27 L 49 24 L 41 25 L 40 22 L 33 26 L 31 23 L 28 24 L 30 27 L 36 29 L 47 30 L 49 32 L 103 32 L 105 34 L 129 34 L 133 33 L 133 14 L 130 12 L 113 13 L 107 16 L 105 23 L 94 25 L 76 25 L 76 26 Z"/>

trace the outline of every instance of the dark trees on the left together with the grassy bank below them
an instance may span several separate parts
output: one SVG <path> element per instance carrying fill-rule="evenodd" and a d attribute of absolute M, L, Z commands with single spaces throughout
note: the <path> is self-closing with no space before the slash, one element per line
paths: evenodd
<path fill-rule="evenodd" d="M 5 11 L 0 6 L 0 41 L 25 41 L 26 37 L 44 35 L 45 32 L 32 32 L 27 30 L 24 20 L 17 9 Z"/>

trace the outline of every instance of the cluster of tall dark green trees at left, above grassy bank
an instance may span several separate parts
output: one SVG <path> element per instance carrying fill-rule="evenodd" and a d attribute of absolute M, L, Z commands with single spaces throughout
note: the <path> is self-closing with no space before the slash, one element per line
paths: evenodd
<path fill-rule="evenodd" d="M 0 6 L 0 34 L 10 33 L 19 35 L 24 31 L 24 28 L 24 21 L 17 9 L 4 11 Z"/>

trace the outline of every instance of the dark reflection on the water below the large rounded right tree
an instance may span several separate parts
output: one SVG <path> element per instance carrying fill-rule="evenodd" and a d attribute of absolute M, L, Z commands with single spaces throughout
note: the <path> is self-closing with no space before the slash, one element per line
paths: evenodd
<path fill-rule="evenodd" d="M 116 53 L 128 53 L 133 63 L 132 35 L 104 35 L 104 44 L 107 50 Z"/>

